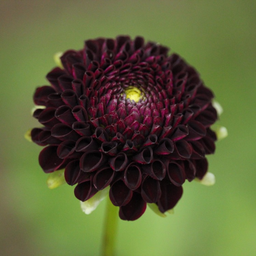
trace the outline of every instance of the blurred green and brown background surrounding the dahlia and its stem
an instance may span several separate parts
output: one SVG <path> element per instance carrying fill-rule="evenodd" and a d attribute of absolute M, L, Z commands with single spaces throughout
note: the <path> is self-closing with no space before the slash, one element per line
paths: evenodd
<path fill-rule="evenodd" d="M 209 171 L 216 184 L 186 182 L 174 215 L 150 209 L 119 220 L 117 255 L 256 255 L 255 1 L 1 1 L 1 255 L 99 255 L 105 202 L 80 210 L 73 187 L 46 186 L 41 147 L 24 139 L 53 55 L 86 39 L 143 35 L 199 70 L 223 108 Z"/>

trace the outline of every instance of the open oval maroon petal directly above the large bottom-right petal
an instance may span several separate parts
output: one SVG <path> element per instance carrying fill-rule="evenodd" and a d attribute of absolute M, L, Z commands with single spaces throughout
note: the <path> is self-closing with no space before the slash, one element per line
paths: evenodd
<path fill-rule="evenodd" d="M 170 181 L 175 186 L 181 186 L 185 182 L 185 171 L 182 166 L 178 165 L 176 162 L 169 162 L 167 172 Z"/>

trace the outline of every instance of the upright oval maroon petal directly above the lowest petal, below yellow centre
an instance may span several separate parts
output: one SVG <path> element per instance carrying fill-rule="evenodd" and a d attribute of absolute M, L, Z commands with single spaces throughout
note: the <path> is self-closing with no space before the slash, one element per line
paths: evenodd
<path fill-rule="evenodd" d="M 125 182 L 125 185 L 131 190 L 135 190 L 140 186 L 141 170 L 134 163 L 131 163 L 125 169 L 124 182 Z"/>

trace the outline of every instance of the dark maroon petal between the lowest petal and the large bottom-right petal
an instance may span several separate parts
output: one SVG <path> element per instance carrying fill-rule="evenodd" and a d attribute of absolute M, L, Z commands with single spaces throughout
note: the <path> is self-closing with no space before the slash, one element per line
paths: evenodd
<path fill-rule="evenodd" d="M 147 203 L 156 203 L 161 196 L 159 182 L 147 176 L 141 185 L 141 196 Z"/>

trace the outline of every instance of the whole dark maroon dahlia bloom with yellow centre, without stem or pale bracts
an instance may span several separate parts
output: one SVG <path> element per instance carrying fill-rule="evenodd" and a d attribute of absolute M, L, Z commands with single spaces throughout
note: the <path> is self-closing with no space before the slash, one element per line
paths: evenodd
<path fill-rule="evenodd" d="M 63 68 L 37 88 L 32 140 L 46 146 L 46 173 L 65 168 L 86 201 L 110 186 L 121 219 L 135 220 L 155 203 L 172 209 L 182 184 L 207 172 L 217 113 L 197 71 L 168 48 L 142 37 L 85 41 L 61 56 Z"/>

